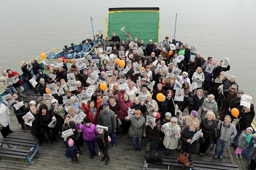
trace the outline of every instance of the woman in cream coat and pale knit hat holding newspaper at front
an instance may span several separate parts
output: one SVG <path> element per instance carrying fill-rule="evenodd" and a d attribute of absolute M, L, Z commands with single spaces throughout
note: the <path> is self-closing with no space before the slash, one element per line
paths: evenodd
<path fill-rule="evenodd" d="M 167 127 L 169 130 L 167 130 Z M 178 118 L 172 117 L 171 122 L 164 124 L 161 128 L 161 131 L 166 131 L 163 140 L 163 144 L 166 147 L 166 152 L 164 155 L 170 154 L 171 156 L 174 156 L 175 149 L 178 147 L 178 139 L 181 138 L 181 128 L 178 125 Z M 168 131 L 171 133 L 168 133 L 167 135 L 166 133 Z"/>

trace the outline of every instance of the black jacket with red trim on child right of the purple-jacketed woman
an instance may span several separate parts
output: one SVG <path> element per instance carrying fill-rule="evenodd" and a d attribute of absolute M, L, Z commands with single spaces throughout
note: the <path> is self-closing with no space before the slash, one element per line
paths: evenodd
<path fill-rule="evenodd" d="M 102 139 L 102 135 L 103 135 L 103 139 Z M 97 152 L 109 149 L 110 143 L 108 141 L 108 131 L 104 130 L 104 134 L 97 133 L 95 143 L 96 143 Z M 100 149 L 103 149 L 103 150 L 100 150 Z"/>

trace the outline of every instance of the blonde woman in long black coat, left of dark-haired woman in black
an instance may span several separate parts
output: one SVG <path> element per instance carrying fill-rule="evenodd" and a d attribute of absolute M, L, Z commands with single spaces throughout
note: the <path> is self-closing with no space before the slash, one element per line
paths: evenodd
<path fill-rule="evenodd" d="M 39 139 L 38 143 L 39 146 L 42 146 L 42 134 L 41 134 L 41 128 L 40 128 L 40 122 L 39 122 L 39 113 L 35 106 L 32 106 L 30 108 L 30 111 L 32 115 L 34 116 L 35 120 L 32 122 L 32 126 L 30 127 L 30 133 L 37 139 Z M 28 123 L 25 122 L 25 125 Z"/>

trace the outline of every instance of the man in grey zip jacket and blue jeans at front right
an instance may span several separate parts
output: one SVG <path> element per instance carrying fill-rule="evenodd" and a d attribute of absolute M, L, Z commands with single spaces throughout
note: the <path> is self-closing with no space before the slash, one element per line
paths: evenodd
<path fill-rule="evenodd" d="M 231 117 L 226 115 L 224 117 L 224 122 L 220 122 L 217 125 L 217 131 L 220 131 L 220 135 L 217 138 L 215 155 L 212 159 L 213 162 L 216 161 L 217 157 L 219 157 L 220 163 L 222 163 L 222 155 L 226 147 L 228 146 L 229 140 L 233 139 L 236 136 L 236 133 L 237 133 L 236 126 L 234 126 L 233 124 L 230 124 L 231 120 L 232 120 Z"/>

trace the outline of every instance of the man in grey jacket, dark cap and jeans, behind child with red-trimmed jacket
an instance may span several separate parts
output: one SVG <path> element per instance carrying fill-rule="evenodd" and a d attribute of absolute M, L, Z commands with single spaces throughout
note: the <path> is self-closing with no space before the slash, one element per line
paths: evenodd
<path fill-rule="evenodd" d="M 112 149 L 116 148 L 116 115 L 115 112 L 109 109 L 109 104 L 105 102 L 103 104 L 103 110 L 100 111 L 98 116 L 98 125 L 108 127 L 109 135 L 112 139 Z"/>

